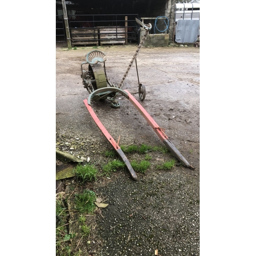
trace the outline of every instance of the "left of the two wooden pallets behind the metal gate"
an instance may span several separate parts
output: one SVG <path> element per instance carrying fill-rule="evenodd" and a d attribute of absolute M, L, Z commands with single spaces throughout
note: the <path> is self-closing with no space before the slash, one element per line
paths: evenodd
<path fill-rule="evenodd" d="M 97 28 L 71 29 L 72 46 L 75 45 L 99 45 Z"/>

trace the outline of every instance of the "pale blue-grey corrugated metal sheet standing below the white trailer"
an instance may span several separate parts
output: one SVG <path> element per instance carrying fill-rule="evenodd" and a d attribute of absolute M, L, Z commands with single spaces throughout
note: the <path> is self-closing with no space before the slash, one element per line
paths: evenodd
<path fill-rule="evenodd" d="M 195 42 L 199 35 L 200 20 L 179 19 L 176 26 L 176 42 Z"/>

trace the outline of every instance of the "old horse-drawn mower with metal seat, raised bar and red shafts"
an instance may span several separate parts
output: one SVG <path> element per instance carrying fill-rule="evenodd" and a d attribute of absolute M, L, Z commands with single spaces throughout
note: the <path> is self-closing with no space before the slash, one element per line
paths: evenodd
<path fill-rule="evenodd" d="M 132 67 L 133 61 L 136 62 L 136 70 L 138 75 L 138 69 L 137 69 L 137 54 L 143 44 L 143 42 L 146 39 L 146 36 L 148 34 L 148 31 L 151 29 L 151 24 L 143 24 L 140 22 L 140 20 L 136 19 L 137 23 L 140 24 L 142 27 L 145 28 L 145 35 L 142 38 L 138 49 L 136 50 L 126 72 L 124 73 L 124 76 L 121 80 L 121 83 L 119 86 L 115 86 L 114 84 L 111 84 L 108 76 L 106 75 L 105 70 L 105 61 L 106 61 L 106 55 L 98 50 L 94 50 L 89 52 L 86 55 L 86 61 L 81 63 L 81 78 L 83 87 L 87 89 L 89 92 L 88 99 L 84 99 L 83 102 L 86 105 L 89 113 L 91 114 L 93 120 L 98 125 L 99 129 L 105 136 L 105 138 L 110 142 L 110 144 L 113 146 L 119 157 L 124 161 L 127 169 L 129 170 L 129 173 L 133 180 L 137 180 L 137 175 L 134 172 L 134 169 L 132 165 L 130 164 L 129 160 L 124 155 L 123 151 L 121 150 L 118 143 L 114 140 L 114 138 L 109 134 L 109 132 L 105 129 L 104 125 L 101 123 L 97 115 L 92 109 L 91 101 L 98 101 L 100 99 L 107 99 L 110 101 L 112 108 L 119 108 L 120 104 L 118 101 L 116 101 L 116 97 L 118 94 L 123 95 L 126 99 L 128 99 L 135 108 L 140 112 L 140 114 L 145 118 L 145 120 L 150 124 L 154 132 L 157 134 L 157 136 L 160 138 L 160 140 L 164 143 L 164 145 L 168 148 L 168 150 L 185 166 L 191 169 L 194 169 L 193 166 L 191 166 L 187 160 L 181 155 L 181 153 L 177 150 L 175 145 L 168 139 L 166 134 L 164 133 L 164 129 L 162 129 L 155 120 L 150 116 L 150 114 L 147 113 L 147 111 L 143 108 L 143 106 L 134 98 L 134 96 L 127 90 L 121 89 L 121 86 L 123 84 L 123 81 L 125 77 L 127 76 L 130 68 Z M 83 70 L 84 64 L 89 64 L 88 71 Z M 100 63 L 103 63 L 103 68 Z M 146 89 L 144 84 L 139 82 L 139 75 L 138 75 L 138 94 L 139 99 L 143 101 L 145 99 L 146 95 Z"/>

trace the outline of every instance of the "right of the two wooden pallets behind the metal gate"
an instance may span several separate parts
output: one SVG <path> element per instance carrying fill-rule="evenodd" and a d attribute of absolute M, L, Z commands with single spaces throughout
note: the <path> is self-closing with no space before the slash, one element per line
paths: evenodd
<path fill-rule="evenodd" d="M 100 45 L 125 44 L 124 27 L 98 27 Z"/>

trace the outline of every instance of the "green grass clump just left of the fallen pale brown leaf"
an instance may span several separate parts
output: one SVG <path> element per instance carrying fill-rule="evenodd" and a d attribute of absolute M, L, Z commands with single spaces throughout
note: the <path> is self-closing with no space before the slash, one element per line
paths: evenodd
<path fill-rule="evenodd" d="M 96 209 L 96 195 L 92 190 L 84 190 L 82 194 L 75 195 L 76 209 L 80 214 L 92 214 Z"/>

